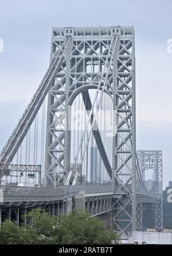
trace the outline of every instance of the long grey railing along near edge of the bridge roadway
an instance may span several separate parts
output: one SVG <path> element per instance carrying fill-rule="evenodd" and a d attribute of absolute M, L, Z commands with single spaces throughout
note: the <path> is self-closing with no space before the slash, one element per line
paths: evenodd
<path fill-rule="evenodd" d="M 0 185 L 0 203 L 25 201 L 57 201 L 84 191 L 84 193 L 113 193 L 107 185 L 76 185 L 57 189 Z"/>

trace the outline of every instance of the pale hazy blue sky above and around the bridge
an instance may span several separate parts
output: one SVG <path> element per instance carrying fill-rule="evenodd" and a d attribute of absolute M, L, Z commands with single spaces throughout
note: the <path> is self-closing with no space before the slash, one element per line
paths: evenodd
<path fill-rule="evenodd" d="M 0 148 L 49 64 L 52 27 L 134 25 L 136 146 L 163 150 L 163 185 L 172 180 L 171 0 L 0 0 Z"/>

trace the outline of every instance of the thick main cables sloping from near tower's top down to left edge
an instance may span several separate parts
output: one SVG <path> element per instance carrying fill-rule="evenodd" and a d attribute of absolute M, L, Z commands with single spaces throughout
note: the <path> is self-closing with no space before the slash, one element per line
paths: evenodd
<path fill-rule="evenodd" d="M 66 37 L 60 49 L 54 51 L 53 58 L 50 62 L 49 68 L 46 71 L 44 78 L 38 86 L 36 93 L 34 93 L 32 100 L 30 101 L 24 114 L 19 120 L 9 140 L 6 142 L 6 145 L 2 149 L 2 152 L 0 154 L 1 163 L 10 163 L 13 160 L 15 154 L 17 153 L 19 146 L 22 144 L 22 141 L 24 141 L 24 138 L 28 133 L 34 119 L 36 118 L 36 115 L 40 110 L 40 107 L 42 106 L 42 103 L 51 87 L 52 80 L 54 79 L 54 73 L 56 73 L 56 70 L 58 70 L 58 66 L 61 65 L 61 62 L 64 59 L 65 50 L 70 40 L 70 37 Z M 2 174 L 0 171 L 0 184 L 1 179 Z"/>

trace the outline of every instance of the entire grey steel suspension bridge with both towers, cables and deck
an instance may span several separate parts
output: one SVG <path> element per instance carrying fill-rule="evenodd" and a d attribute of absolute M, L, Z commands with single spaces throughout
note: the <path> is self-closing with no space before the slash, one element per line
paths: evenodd
<path fill-rule="evenodd" d="M 48 70 L 0 155 L 0 224 L 83 209 L 128 235 L 152 209 L 162 229 L 162 152 L 136 152 L 135 131 L 134 28 L 53 28 Z"/>

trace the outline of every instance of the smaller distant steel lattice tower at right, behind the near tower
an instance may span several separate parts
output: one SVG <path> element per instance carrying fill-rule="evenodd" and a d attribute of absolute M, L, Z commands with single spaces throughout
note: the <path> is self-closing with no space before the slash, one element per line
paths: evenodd
<path fill-rule="evenodd" d="M 139 203 L 136 205 L 136 227 L 142 228 L 142 214 L 147 208 L 155 211 L 155 228 L 163 228 L 163 206 L 162 206 L 162 151 L 158 150 L 139 150 L 138 162 L 143 180 L 145 180 L 145 171 L 153 170 L 153 179 L 149 191 L 155 193 L 157 200 L 154 206 L 151 204 Z"/>

